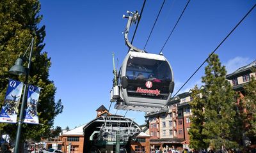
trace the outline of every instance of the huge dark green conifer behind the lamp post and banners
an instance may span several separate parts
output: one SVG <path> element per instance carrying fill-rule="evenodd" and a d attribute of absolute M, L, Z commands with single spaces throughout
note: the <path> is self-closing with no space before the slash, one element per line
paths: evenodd
<path fill-rule="evenodd" d="M 35 38 L 29 84 L 44 88 L 38 101 L 38 116 L 42 125 L 22 125 L 22 140 L 49 137 L 56 115 L 62 112 L 63 106 L 59 100 L 54 102 L 56 87 L 49 80 L 51 61 L 44 48 L 45 26 L 39 27 L 42 15 L 39 14 L 38 0 L 1 0 L 0 1 L 0 100 L 3 101 L 8 80 L 13 78 L 24 82 L 24 76 L 8 73 L 19 55 L 28 48 L 31 38 Z M 24 64 L 26 66 L 27 63 Z M 3 104 L 1 104 L 3 105 Z M 3 133 L 15 138 L 16 124 L 0 124 Z"/>

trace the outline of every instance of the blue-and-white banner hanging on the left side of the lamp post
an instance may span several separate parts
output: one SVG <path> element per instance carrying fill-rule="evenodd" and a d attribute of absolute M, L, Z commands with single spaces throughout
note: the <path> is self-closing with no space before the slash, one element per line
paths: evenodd
<path fill-rule="evenodd" d="M 0 122 L 16 123 L 19 111 L 23 82 L 9 80 L 8 88 L 1 108 Z"/>

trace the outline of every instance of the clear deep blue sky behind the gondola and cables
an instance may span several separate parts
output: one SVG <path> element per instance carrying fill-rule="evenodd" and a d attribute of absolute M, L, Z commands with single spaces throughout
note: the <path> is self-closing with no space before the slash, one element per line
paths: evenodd
<path fill-rule="evenodd" d="M 148 0 L 133 45 L 143 48 L 163 1 Z M 167 0 L 155 26 L 147 52 L 158 54 L 187 1 Z M 256 1 L 215 0 L 191 1 L 172 37 L 163 49 L 173 68 L 175 91 L 191 76 L 205 58 L 227 36 Z M 46 26 L 45 48 L 51 57 L 49 78 L 57 87 L 56 100 L 64 110 L 54 126 L 74 128 L 95 119 L 95 110 L 109 107 L 112 87 L 112 52 L 118 68 L 127 54 L 124 31 L 127 10 L 141 10 L 143 0 L 114 1 L 41 1 L 41 24 Z M 216 54 L 229 73 L 256 59 L 256 10 L 237 27 Z M 130 38 L 135 25 L 131 27 Z M 200 84 L 204 68 L 182 89 L 188 91 Z M 114 104 L 113 104 L 114 105 Z M 111 107 L 110 112 L 116 113 Z M 125 111 L 118 110 L 120 115 Z M 143 112 L 127 112 L 144 123 Z"/>

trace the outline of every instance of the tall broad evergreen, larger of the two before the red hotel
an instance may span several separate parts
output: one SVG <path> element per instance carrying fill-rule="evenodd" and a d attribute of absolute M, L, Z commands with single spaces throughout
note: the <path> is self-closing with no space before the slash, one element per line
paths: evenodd
<path fill-rule="evenodd" d="M 213 149 L 227 152 L 227 149 L 237 147 L 237 143 L 232 140 L 236 115 L 235 93 L 225 79 L 227 71 L 225 66 L 221 66 L 218 55 L 212 54 L 207 63 L 205 76 L 202 77 L 205 84 L 202 91 L 205 116 L 202 135 L 205 135 L 204 142 Z"/>

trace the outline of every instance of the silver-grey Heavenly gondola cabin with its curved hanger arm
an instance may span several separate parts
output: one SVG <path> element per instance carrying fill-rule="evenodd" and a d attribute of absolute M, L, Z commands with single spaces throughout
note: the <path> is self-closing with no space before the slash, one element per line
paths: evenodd
<path fill-rule="evenodd" d="M 138 11 L 127 13 L 129 16 L 123 15 L 128 19 L 124 40 L 129 52 L 118 75 L 113 61 L 115 78 L 110 101 L 116 102 L 118 110 L 156 112 L 170 101 L 174 88 L 172 67 L 162 53 L 149 54 L 130 43 L 129 29 L 140 20 L 140 15 Z"/>

